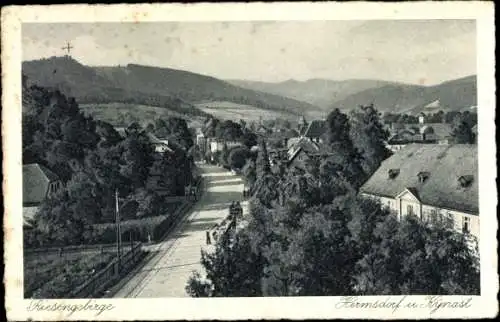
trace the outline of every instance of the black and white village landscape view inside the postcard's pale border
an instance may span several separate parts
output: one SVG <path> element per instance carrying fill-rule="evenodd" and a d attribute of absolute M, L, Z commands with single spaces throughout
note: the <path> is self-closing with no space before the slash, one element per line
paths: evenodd
<path fill-rule="evenodd" d="M 484 294 L 476 19 L 145 17 L 20 25 L 28 311 Z"/>

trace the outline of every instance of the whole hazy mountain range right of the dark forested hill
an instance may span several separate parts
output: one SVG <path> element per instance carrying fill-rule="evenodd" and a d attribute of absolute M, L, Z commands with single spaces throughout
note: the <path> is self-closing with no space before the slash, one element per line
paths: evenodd
<path fill-rule="evenodd" d="M 418 113 L 431 102 L 439 101 L 438 109 L 464 110 L 477 103 L 475 75 L 420 86 L 371 79 L 334 81 L 310 79 L 287 80 L 280 83 L 229 80 L 229 82 L 260 91 L 268 91 L 315 104 L 328 111 L 333 108 L 349 110 L 373 103 L 378 110 L 396 113 Z"/>

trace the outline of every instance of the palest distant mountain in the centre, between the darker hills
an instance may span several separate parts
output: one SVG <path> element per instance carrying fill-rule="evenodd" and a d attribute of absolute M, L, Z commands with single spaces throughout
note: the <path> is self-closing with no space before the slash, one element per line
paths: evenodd
<path fill-rule="evenodd" d="M 228 82 L 236 86 L 308 102 L 323 109 L 330 109 L 333 102 L 343 100 L 352 94 L 371 88 L 397 84 L 372 79 L 348 79 L 343 81 L 329 79 L 297 81 L 292 79 L 279 83 L 246 80 L 228 80 Z"/>

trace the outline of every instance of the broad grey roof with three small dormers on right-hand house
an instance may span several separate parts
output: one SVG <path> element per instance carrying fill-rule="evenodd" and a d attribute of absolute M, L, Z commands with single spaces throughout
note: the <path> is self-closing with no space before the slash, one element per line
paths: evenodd
<path fill-rule="evenodd" d="M 360 192 L 394 198 L 410 188 L 425 205 L 478 214 L 477 168 L 477 145 L 410 144 L 382 162 Z M 388 175 L 391 169 L 399 170 L 393 179 Z M 420 172 L 429 173 L 423 183 Z M 463 188 L 458 179 L 467 175 L 474 180 Z"/>

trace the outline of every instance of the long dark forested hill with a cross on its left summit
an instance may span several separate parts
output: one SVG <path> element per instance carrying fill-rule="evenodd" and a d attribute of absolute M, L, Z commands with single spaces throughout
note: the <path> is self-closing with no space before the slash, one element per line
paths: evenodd
<path fill-rule="evenodd" d="M 319 108 L 308 103 L 234 86 L 191 72 L 129 64 L 88 67 L 68 57 L 23 62 L 23 73 L 41 85 L 57 87 L 82 103 L 131 102 L 169 106 L 229 101 L 302 115 Z"/>

